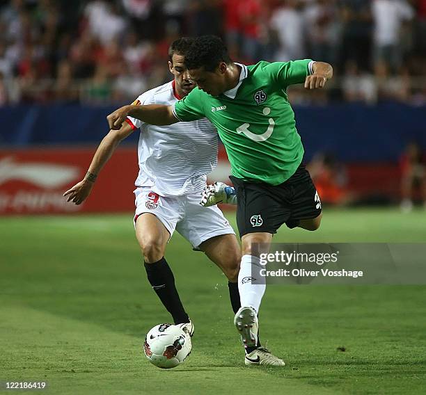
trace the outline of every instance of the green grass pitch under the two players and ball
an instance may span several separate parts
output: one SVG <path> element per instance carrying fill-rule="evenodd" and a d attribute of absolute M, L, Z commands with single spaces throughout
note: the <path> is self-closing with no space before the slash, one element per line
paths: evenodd
<path fill-rule="evenodd" d="M 283 227 L 274 241 L 424 243 L 425 220 L 326 209 L 317 232 Z M 196 325 L 192 354 L 168 371 L 141 348 L 170 319 L 131 213 L 1 218 L 0 380 L 46 380 L 48 394 L 426 393 L 426 286 L 268 287 L 261 339 L 287 366 L 247 368 L 225 277 L 178 234 L 166 257 Z"/>

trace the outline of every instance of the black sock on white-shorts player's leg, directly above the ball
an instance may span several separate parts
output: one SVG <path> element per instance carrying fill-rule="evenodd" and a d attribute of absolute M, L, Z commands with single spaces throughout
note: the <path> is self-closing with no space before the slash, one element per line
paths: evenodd
<path fill-rule="evenodd" d="M 152 289 L 154 289 L 161 303 L 173 317 L 175 324 L 189 322 L 188 314 L 182 306 L 175 286 L 175 277 L 166 259 L 162 257 L 153 264 L 145 263 L 145 270 Z"/>

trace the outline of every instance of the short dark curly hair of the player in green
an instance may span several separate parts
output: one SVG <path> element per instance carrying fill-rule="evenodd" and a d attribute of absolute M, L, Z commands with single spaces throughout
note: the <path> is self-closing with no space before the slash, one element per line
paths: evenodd
<path fill-rule="evenodd" d="M 185 66 L 188 70 L 204 67 L 207 72 L 213 72 L 221 62 L 228 65 L 232 63 L 228 49 L 216 35 L 201 35 L 195 38 L 185 54 Z"/>

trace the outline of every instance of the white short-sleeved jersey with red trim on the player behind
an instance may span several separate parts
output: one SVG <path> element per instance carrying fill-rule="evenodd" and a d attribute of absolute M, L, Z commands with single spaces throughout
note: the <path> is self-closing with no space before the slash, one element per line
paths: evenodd
<path fill-rule="evenodd" d="M 139 104 L 165 104 L 178 101 L 174 81 L 148 90 L 136 100 Z M 218 134 L 206 118 L 167 126 L 146 124 L 128 117 L 134 129 L 140 128 L 139 175 L 136 186 L 147 186 L 161 196 L 179 196 L 203 190 L 207 173 L 217 163 Z"/>

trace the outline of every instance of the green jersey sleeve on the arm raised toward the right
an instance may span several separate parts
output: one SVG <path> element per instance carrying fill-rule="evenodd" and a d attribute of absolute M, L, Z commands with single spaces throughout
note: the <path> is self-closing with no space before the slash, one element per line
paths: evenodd
<path fill-rule="evenodd" d="M 313 74 L 313 63 L 311 59 L 290 62 L 274 62 L 264 67 L 271 81 L 280 88 L 287 88 L 295 83 L 303 83 L 308 75 Z"/>

